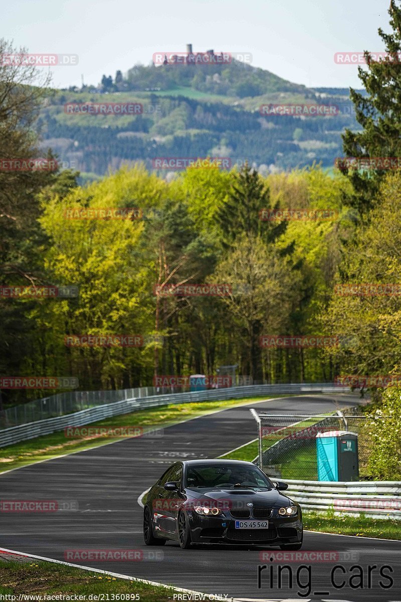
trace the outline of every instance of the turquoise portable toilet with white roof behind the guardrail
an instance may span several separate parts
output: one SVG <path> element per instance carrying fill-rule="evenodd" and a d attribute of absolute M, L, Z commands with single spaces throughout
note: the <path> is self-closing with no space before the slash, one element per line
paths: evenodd
<path fill-rule="evenodd" d="M 330 430 L 316 435 L 317 479 L 357 481 L 358 435 L 346 430 Z"/>

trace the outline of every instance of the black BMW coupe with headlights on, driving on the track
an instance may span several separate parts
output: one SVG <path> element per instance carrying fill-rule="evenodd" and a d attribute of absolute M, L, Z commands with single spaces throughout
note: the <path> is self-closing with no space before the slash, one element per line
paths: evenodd
<path fill-rule="evenodd" d="M 144 507 L 146 545 L 168 539 L 191 544 L 254 544 L 299 550 L 302 512 L 251 462 L 175 462 L 148 492 Z"/>

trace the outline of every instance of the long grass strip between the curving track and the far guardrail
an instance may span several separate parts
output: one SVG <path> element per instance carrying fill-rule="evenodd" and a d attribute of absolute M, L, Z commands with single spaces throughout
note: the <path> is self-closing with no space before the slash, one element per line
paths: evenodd
<path fill-rule="evenodd" d="M 278 397 L 278 396 L 275 396 Z M 268 396 L 248 397 L 246 399 L 230 399 L 216 402 L 182 403 L 176 405 L 159 406 L 123 414 L 91 423 L 90 427 L 101 426 L 129 426 L 151 429 L 153 427 L 171 426 L 189 418 L 195 418 L 210 412 L 245 405 L 253 401 L 270 399 Z M 83 426 L 83 425 L 82 425 Z M 57 456 L 72 452 L 81 452 L 111 441 L 120 441 L 121 438 L 111 436 L 94 436 L 81 439 L 67 439 L 64 431 L 44 435 L 35 439 L 28 439 L 14 445 L 0 448 L 0 473 L 11 468 L 19 468 L 34 462 L 57 458 Z"/>

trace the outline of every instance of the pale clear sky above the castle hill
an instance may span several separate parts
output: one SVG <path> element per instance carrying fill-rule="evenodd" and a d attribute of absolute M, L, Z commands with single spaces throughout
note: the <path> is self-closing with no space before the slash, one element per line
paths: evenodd
<path fill-rule="evenodd" d="M 360 88 L 336 52 L 384 50 L 390 0 L 3 0 L 1 37 L 31 53 L 78 55 L 52 85 L 97 85 L 154 52 L 246 52 L 253 66 L 308 87 Z M 47 67 L 41 67 L 47 69 Z"/>

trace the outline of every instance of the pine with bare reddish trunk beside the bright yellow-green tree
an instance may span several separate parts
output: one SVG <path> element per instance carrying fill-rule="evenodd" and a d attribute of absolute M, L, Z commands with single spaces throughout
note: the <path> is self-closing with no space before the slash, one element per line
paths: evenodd
<path fill-rule="evenodd" d="M 178 192 L 177 188 L 175 190 Z M 188 206 L 179 196 L 182 194 L 150 213 L 143 238 L 143 253 L 150 259 L 146 281 L 155 296 L 155 376 L 160 374 L 161 367 L 172 370 L 170 373 L 176 370 L 180 373 L 183 350 L 188 348 L 185 334 L 197 330 L 192 320 L 188 320 L 188 314 L 194 317 L 192 310 L 196 301 L 186 294 L 167 297 L 163 287 L 174 290 L 174 287 L 191 282 L 202 283 L 215 265 L 213 250 L 197 231 Z M 196 323 L 196 318 L 194 321 Z M 193 337 L 189 339 L 192 341 Z M 191 349 L 194 355 L 201 356 L 200 348 L 195 349 L 191 344 Z"/>

